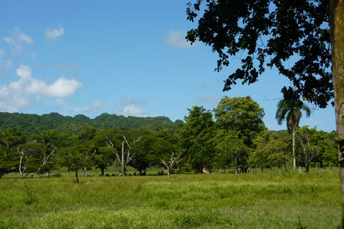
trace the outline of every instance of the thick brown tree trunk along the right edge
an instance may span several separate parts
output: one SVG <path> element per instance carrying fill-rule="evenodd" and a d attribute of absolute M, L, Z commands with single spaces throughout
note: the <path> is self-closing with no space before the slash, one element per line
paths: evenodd
<path fill-rule="evenodd" d="M 344 0 L 330 0 L 330 32 L 332 50 L 332 74 L 334 82 L 334 107 L 336 112 L 336 133 L 344 139 Z M 340 161 L 342 228 L 344 228 L 344 161 L 343 141 L 338 144 Z"/>

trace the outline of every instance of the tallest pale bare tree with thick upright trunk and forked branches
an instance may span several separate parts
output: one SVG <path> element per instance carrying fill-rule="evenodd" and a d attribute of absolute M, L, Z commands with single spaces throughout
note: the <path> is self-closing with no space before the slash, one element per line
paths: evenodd
<path fill-rule="evenodd" d="M 120 174 L 120 176 L 125 175 L 125 171 L 127 170 L 127 166 L 129 164 L 129 162 L 131 161 L 131 159 L 133 159 L 133 156 L 135 155 L 135 153 L 131 153 L 131 150 L 142 139 L 142 136 L 140 136 L 138 139 L 134 138 L 133 142 L 131 142 L 131 144 L 129 144 L 129 142 L 127 141 L 127 138 L 125 138 L 125 135 L 122 135 L 122 136 L 124 138 L 124 140 L 122 141 L 122 158 L 120 158 L 120 155 L 115 150 L 114 143 L 111 142 L 111 140 L 107 139 L 107 141 L 105 142 L 105 144 L 107 144 L 107 146 L 109 146 L 112 149 L 112 153 L 114 153 L 116 155 L 116 161 L 122 166 L 122 173 Z M 128 147 L 126 160 L 125 160 L 125 143 L 127 144 L 127 147 Z"/>

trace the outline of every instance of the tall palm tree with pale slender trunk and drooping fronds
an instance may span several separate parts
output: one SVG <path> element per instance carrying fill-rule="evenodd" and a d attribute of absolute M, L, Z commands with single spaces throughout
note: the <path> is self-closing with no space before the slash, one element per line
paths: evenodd
<path fill-rule="evenodd" d="M 287 129 L 292 133 L 292 163 L 296 168 L 295 160 L 295 128 L 299 127 L 299 122 L 302 116 L 301 110 L 305 111 L 307 117 L 310 117 L 310 108 L 303 105 L 301 102 L 295 100 L 279 100 L 277 104 L 276 119 L 278 124 L 282 124 L 286 119 Z"/>

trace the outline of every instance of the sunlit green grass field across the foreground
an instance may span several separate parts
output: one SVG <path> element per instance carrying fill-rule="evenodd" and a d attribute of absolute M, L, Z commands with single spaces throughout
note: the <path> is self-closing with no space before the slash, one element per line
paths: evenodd
<path fill-rule="evenodd" d="M 0 179 L 0 228 L 336 228 L 338 173 Z"/>

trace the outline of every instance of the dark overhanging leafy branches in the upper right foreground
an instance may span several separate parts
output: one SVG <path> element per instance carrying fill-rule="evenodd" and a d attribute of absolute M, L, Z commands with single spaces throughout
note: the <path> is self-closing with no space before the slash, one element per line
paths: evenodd
<path fill-rule="evenodd" d="M 265 67 L 277 67 L 290 80 L 281 89 L 286 99 L 327 106 L 334 95 L 328 1 L 206 0 L 205 10 L 202 2 L 188 4 L 189 21 L 203 14 L 186 39 L 202 41 L 217 52 L 217 71 L 230 65 L 230 56 L 244 53 L 224 91 L 237 80 L 255 83 Z"/>

